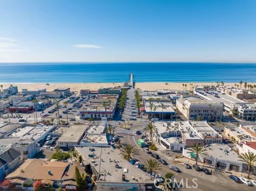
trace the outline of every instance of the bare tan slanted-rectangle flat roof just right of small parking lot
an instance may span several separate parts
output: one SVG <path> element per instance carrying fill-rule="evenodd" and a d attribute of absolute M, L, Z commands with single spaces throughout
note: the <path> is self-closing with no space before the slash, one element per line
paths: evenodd
<path fill-rule="evenodd" d="M 88 128 L 87 125 L 70 126 L 65 130 L 57 142 L 78 142 Z"/>

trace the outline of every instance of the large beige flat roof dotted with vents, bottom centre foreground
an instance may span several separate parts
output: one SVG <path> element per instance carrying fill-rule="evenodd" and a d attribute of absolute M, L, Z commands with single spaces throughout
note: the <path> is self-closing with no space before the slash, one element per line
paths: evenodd
<path fill-rule="evenodd" d="M 86 158 L 86 162 L 99 172 L 98 182 L 123 182 L 123 174 L 129 183 L 153 182 L 148 174 L 124 160 L 119 151 L 112 147 L 83 146 L 76 148 Z M 124 172 L 124 169 L 127 169 L 127 172 Z"/>

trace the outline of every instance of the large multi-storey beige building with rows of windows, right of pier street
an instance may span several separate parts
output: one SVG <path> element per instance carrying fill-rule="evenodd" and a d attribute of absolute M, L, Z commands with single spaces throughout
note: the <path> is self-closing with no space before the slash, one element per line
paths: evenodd
<path fill-rule="evenodd" d="M 181 96 L 176 107 L 187 120 L 196 120 L 202 116 L 202 120 L 219 121 L 223 116 L 223 104 L 203 100 L 198 96 Z"/>

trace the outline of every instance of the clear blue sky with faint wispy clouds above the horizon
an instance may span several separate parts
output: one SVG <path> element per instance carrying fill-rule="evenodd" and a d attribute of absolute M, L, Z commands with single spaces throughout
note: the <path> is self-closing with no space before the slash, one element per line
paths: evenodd
<path fill-rule="evenodd" d="M 256 62 L 255 0 L 0 0 L 0 62 Z"/>

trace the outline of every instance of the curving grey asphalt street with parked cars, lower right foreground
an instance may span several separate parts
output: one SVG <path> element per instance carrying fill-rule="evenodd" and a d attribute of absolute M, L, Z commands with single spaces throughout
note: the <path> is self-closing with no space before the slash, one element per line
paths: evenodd
<path fill-rule="evenodd" d="M 127 144 L 137 145 L 136 140 L 140 139 L 140 135 L 127 135 L 123 134 L 123 137 L 121 138 L 121 142 L 126 142 Z M 138 146 L 138 145 L 137 145 Z M 136 159 L 139 160 L 139 162 L 145 164 L 146 159 L 152 158 L 149 154 L 147 154 L 142 148 L 139 148 L 140 155 L 136 156 Z M 219 174 L 213 174 L 213 175 L 206 175 L 203 172 L 197 172 L 194 169 L 185 169 L 184 164 L 174 164 L 172 159 L 173 156 L 161 156 L 162 153 L 158 152 L 158 155 L 160 155 L 161 158 L 165 159 L 169 165 L 178 166 L 180 170 L 182 171 L 179 174 L 175 174 L 174 171 L 169 170 L 169 167 L 166 165 L 162 165 L 161 171 L 158 171 L 158 173 L 165 175 L 167 172 L 172 172 L 175 174 L 175 178 L 180 181 L 183 178 L 184 186 L 187 182 L 187 188 L 186 190 L 195 190 L 195 188 L 189 188 L 192 186 L 196 186 L 196 184 L 192 181 L 193 178 L 197 178 L 197 180 L 194 180 L 198 187 L 196 190 L 199 191 L 206 191 L 206 190 L 255 190 L 254 187 L 247 187 L 244 184 L 237 184 L 233 181 L 231 181 L 227 176 L 219 175 Z"/>

